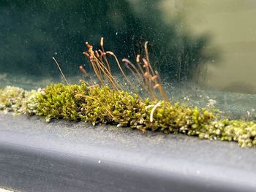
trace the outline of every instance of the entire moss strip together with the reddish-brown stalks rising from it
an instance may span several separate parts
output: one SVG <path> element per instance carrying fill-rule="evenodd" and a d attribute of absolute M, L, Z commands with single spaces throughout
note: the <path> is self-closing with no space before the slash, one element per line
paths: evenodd
<path fill-rule="evenodd" d="M 118 69 L 127 80 L 116 55 L 105 52 L 103 39 L 102 50 L 85 52 L 95 74 L 102 85 L 90 85 L 82 80 L 80 85 L 48 85 L 44 89 L 25 91 L 7 86 L 0 89 L 0 110 L 20 114 L 44 116 L 51 119 L 65 119 L 97 123 L 110 123 L 145 131 L 161 131 L 165 134 L 179 133 L 197 136 L 200 139 L 236 141 L 241 147 L 256 146 L 256 123 L 248 120 L 229 120 L 221 118 L 217 112 L 185 104 L 172 103 L 162 90 L 158 72 L 152 69 L 145 45 L 146 58 L 138 55 L 137 66 L 123 59 L 127 68 L 138 78 L 138 82 L 148 93 L 149 99 L 142 99 L 138 94 L 124 91 L 116 82 L 110 69 L 107 54 L 116 60 Z M 80 70 L 87 74 L 86 69 Z M 108 84 L 108 85 L 106 85 Z M 130 84 L 132 87 L 132 83 Z M 158 99 L 158 96 L 162 97 Z M 215 111 L 215 110 L 214 110 Z"/>

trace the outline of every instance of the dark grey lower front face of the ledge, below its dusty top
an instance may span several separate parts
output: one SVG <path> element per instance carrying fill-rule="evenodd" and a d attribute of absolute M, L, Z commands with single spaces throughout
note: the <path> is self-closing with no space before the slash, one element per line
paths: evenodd
<path fill-rule="evenodd" d="M 104 159 L 0 144 L 0 185 L 19 191 L 253 191 Z"/>

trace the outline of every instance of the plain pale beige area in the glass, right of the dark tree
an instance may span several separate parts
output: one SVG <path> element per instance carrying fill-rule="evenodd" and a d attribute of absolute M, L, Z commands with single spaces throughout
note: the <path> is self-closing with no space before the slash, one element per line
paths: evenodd
<path fill-rule="evenodd" d="M 208 32 L 221 60 L 208 65 L 206 85 L 224 91 L 256 93 L 255 0 L 163 0 L 166 20 L 184 17 L 195 34 Z"/>

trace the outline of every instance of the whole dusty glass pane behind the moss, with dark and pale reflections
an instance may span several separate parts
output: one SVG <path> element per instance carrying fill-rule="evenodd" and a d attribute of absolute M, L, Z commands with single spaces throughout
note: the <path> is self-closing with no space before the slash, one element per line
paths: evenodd
<path fill-rule="evenodd" d="M 80 64 L 92 72 L 84 42 L 97 48 L 104 37 L 120 60 L 135 61 L 148 41 L 173 100 L 204 107 L 212 99 L 230 115 L 255 118 L 255 15 L 252 0 L 2 0 L 0 85 L 61 81 L 53 57 L 78 82 Z"/>

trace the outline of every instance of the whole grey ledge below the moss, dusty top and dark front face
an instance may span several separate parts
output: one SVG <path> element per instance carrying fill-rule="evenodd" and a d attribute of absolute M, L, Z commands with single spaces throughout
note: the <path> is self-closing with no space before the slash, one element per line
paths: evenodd
<path fill-rule="evenodd" d="M 256 148 L 0 113 L 0 188 L 256 191 Z"/>

